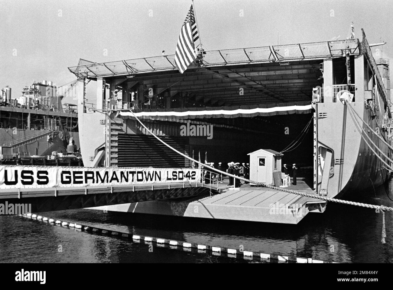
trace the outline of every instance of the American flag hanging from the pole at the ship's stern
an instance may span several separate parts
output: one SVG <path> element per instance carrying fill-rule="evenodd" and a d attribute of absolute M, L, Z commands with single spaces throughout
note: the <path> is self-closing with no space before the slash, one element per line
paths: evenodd
<path fill-rule="evenodd" d="M 191 62 L 196 60 L 194 42 L 198 40 L 198 38 L 199 35 L 198 30 L 196 29 L 194 9 L 193 5 L 191 4 L 190 10 L 185 17 L 182 30 L 180 31 L 174 57 L 176 66 L 180 73 L 184 73 Z"/>

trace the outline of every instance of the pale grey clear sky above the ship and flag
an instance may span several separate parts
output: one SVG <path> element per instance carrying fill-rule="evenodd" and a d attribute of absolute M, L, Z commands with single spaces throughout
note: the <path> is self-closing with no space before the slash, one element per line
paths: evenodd
<path fill-rule="evenodd" d="M 174 54 L 191 0 L 0 0 L 0 88 L 75 80 L 68 67 Z M 393 56 L 389 0 L 194 0 L 206 50 L 345 39 Z M 94 83 L 94 82 L 91 82 Z"/>

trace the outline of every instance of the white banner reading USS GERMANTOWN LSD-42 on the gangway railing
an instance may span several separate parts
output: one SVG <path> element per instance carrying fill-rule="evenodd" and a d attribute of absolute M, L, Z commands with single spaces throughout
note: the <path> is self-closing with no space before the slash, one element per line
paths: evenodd
<path fill-rule="evenodd" d="M 200 182 L 200 176 L 200 169 L 191 168 L 0 166 L 0 190 Z"/>

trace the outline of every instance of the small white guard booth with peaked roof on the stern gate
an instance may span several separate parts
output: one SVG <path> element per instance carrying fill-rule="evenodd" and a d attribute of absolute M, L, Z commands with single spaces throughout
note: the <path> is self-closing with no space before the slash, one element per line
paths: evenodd
<path fill-rule="evenodd" d="M 284 155 L 283 153 L 271 149 L 259 149 L 247 155 L 250 155 L 250 180 L 275 186 L 282 184 L 281 156 Z"/>

